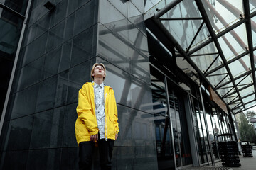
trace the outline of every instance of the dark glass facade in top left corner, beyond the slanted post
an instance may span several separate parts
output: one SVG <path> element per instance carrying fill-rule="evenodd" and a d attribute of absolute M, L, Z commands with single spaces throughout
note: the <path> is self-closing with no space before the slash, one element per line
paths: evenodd
<path fill-rule="evenodd" d="M 23 26 L 27 1 L 0 1 L 0 115 L 4 108 L 12 67 Z M 11 9 L 8 9 L 11 8 Z M 11 11 L 14 10 L 14 11 Z"/>

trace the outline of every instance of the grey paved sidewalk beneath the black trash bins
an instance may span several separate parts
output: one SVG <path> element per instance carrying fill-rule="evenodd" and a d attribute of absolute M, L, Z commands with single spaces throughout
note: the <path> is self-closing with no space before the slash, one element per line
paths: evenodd
<path fill-rule="evenodd" d="M 225 167 L 222 162 L 215 163 L 215 166 L 190 167 L 182 170 L 255 170 L 256 169 L 256 150 L 252 150 L 253 157 L 239 156 L 241 166 Z"/>

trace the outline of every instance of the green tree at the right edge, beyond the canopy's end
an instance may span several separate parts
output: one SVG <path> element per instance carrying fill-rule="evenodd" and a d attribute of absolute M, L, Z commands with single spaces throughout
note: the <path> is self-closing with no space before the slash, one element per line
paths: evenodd
<path fill-rule="evenodd" d="M 249 124 L 247 118 L 244 114 L 240 114 L 240 123 L 238 123 L 238 128 L 241 135 L 242 141 L 250 141 L 256 143 L 256 133 L 252 125 Z"/>

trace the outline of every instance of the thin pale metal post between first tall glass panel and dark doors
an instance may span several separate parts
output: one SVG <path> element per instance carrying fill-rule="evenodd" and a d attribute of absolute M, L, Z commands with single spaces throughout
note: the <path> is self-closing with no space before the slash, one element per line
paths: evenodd
<path fill-rule="evenodd" d="M 171 122 L 171 112 L 170 112 L 170 101 L 169 101 L 169 91 L 168 91 L 168 86 L 167 86 L 167 77 L 164 76 L 164 85 L 166 89 L 166 100 L 167 100 L 167 111 L 169 114 L 169 120 L 170 120 L 170 132 L 171 132 L 171 143 L 172 143 L 172 148 L 173 148 L 173 153 L 174 153 L 174 169 L 177 169 L 177 164 L 176 164 L 176 157 L 175 157 L 175 149 L 174 149 L 174 132 L 173 132 L 173 125 Z"/>

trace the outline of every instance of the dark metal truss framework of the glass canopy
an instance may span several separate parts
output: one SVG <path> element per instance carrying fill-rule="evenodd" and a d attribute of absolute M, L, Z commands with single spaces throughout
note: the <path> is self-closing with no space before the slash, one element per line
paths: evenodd
<path fill-rule="evenodd" d="M 166 0 L 161 0 L 161 2 L 165 2 Z M 187 1 L 187 0 L 183 0 Z M 174 48 L 177 52 L 176 55 L 177 57 L 183 57 L 191 66 L 193 69 L 196 70 L 198 73 L 198 78 L 206 82 L 209 86 L 212 87 L 212 89 L 218 94 L 218 96 L 222 99 L 222 101 L 228 106 L 229 110 L 236 114 L 240 113 L 242 111 L 245 111 L 249 108 L 255 107 L 256 106 L 256 79 L 255 79 L 255 62 L 256 62 L 256 56 L 253 54 L 253 52 L 256 50 L 256 47 L 253 47 L 252 43 L 252 31 L 256 33 L 256 22 L 252 21 L 252 18 L 256 16 L 256 11 L 250 13 L 250 3 L 251 6 L 255 5 L 254 7 L 256 8 L 256 3 L 250 2 L 250 0 L 242 0 L 242 6 L 244 9 L 244 13 L 241 13 L 235 6 L 232 4 L 229 4 L 227 0 L 215 0 L 218 1 L 221 5 L 225 6 L 230 13 L 233 13 L 234 16 L 239 16 L 235 23 L 225 23 L 225 20 L 223 19 L 223 16 L 218 13 L 213 6 L 208 6 L 206 8 L 206 4 L 209 4 L 208 0 L 194 0 L 194 4 L 196 4 L 197 10 L 201 14 L 201 17 L 193 17 L 193 16 L 188 16 L 188 17 L 170 17 L 169 16 L 169 11 L 171 11 L 173 8 L 176 8 L 182 0 L 174 0 L 171 3 L 167 4 L 164 6 L 164 8 L 156 8 L 156 11 L 150 10 L 145 13 L 144 20 L 146 23 L 147 28 L 151 31 L 151 33 L 154 33 L 156 38 L 159 39 L 160 42 L 162 42 L 167 49 L 171 51 L 171 48 Z M 214 1 L 214 3 L 215 3 Z M 205 4 L 203 4 L 203 2 Z M 163 6 L 164 3 L 161 4 Z M 157 5 L 157 4 L 156 4 Z M 210 20 L 207 11 L 212 11 L 214 13 L 215 18 L 218 18 L 222 23 L 225 23 L 223 25 L 227 26 L 223 31 L 216 33 L 215 30 L 217 30 L 216 26 L 213 26 L 213 21 Z M 166 17 L 167 16 L 167 17 Z M 199 26 L 198 30 L 194 34 L 193 40 L 191 41 L 190 45 L 185 49 L 181 47 L 181 44 L 178 43 L 174 35 L 170 32 L 166 26 L 164 26 L 163 21 L 196 21 L 196 20 L 201 20 L 202 23 Z M 245 25 L 246 28 L 246 35 L 247 35 L 247 42 L 242 42 L 240 40 L 240 37 L 237 33 L 235 33 L 235 28 L 238 28 L 241 25 Z M 193 47 L 191 49 L 191 45 L 193 45 L 194 40 L 196 40 L 196 37 L 198 36 L 198 33 L 201 31 L 203 28 L 203 25 L 206 25 L 206 28 L 208 30 L 208 39 L 202 42 L 200 45 L 197 47 Z M 215 28 L 215 30 L 213 30 Z M 235 38 L 235 40 L 238 41 L 238 44 L 241 47 L 245 47 L 245 51 L 242 52 L 242 54 L 238 54 L 236 52 L 232 45 L 230 44 L 230 40 L 225 38 L 223 35 L 226 35 L 227 33 L 230 33 L 230 35 Z M 223 38 L 223 40 L 226 42 L 227 46 L 229 47 L 228 50 L 233 52 L 233 54 L 238 54 L 235 55 L 231 60 L 226 60 L 226 56 L 223 52 L 223 48 L 220 45 L 220 40 L 219 38 Z M 215 59 L 211 62 L 211 64 L 208 66 L 208 68 L 201 71 L 199 68 L 198 64 L 193 62 L 191 57 L 193 56 L 200 56 L 200 55 L 194 55 L 195 52 L 198 50 L 201 50 L 203 47 L 206 47 L 206 45 L 210 45 L 210 43 L 214 43 L 215 48 L 218 50 L 218 52 L 213 52 L 213 53 L 206 53 L 206 54 L 201 54 L 201 55 L 216 55 Z M 245 44 L 247 43 L 247 45 Z M 245 57 L 248 55 L 250 57 L 250 65 L 245 64 L 245 62 L 242 60 L 242 57 Z M 215 68 L 211 68 L 215 60 L 220 58 L 222 60 L 222 64 L 218 65 Z M 229 64 L 233 62 L 240 62 L 242 64 L 242 67 L 245 69 L 246 72 L 242 72 L 242 74 L 239 74 L 238 76 L 233 76 Z M 225 69 L 227 73 L 219 73 L 216 74 L 215 72 L 218 71 L 219 69 Z M 215 74 L 214 74 L 215 73 Z M 208 80 L 208 77 L 218 77 L 220 81 L 218 84 L 211 84 L 210 81 Z M 229 80 L 227 81 L 229 77 Z M 247 83 L 247 84 L 242 84 L 241 82 L 245 80 L 246 78 L 250 77 L 252 79 L 252 82 Z M 224 81 L 225 80 L 225 81 Z M 238 81 L 238 82 L 237 82 Z M 232 84 L 232 85 L 230 85 Z M 229 86 L 227 86 L 229 85 Z M 247 88 L 252 88 L 254 91 L 251 91 L 250 94 L 246 95 L 241 95 L 240 91 L 246 90 Z M 225 94 L 219 94 L 218 90 L 219 89 L 226 89 Z M 253 98 L 252 98 L 253 96 Z M 232 97 L 231 100 L 227 100 L 227 98 Z M 244 102 L 243 99 L 250 97 L 250 101 Z M 226 101 L 225 101 L 226 99 Z"/>

